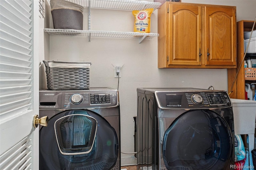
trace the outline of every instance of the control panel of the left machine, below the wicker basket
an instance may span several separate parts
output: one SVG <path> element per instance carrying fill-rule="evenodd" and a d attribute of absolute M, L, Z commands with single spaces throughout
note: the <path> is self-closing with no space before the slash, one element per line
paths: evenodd
<path fill-rule="evenodd" d="M 39 91 L 39 109 L 90 109 L 117 105 L 118 91 L 112 89 Z"/>

